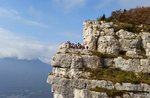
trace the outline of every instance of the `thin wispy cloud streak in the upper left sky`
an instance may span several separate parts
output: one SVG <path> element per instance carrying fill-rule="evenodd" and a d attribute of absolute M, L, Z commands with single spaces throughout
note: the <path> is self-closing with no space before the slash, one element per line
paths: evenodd
<path fill-rule="evenodd" d="M 29 25 L 29 26 L 36 26 L 41 28 L 49 28 L 48 25 L 26 19 L 20 15 L 20 13 L 14 9 L 6 9 L 6 8 L 0 8 L 0 18 L 5 19 L 13 19 L 15 21 L 21 22 L 23 24 Z"/>

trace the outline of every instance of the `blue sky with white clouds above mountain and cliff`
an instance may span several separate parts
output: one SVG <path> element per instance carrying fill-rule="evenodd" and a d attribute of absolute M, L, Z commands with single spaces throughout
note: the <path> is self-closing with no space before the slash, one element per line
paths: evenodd
<path fill-rule="evenodd" d="M 83 21 L 150 0 L 0 0 L 0 59 L 50 63 L 60 43 L 82 43 Z"/>

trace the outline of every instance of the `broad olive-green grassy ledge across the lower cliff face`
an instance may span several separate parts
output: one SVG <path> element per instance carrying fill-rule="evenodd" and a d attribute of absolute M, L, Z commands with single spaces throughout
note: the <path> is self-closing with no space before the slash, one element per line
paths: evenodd
<path fill-rule="evenodd" d="M 90 72 L 91 76 L 88 77 L 91 80 L 108 80 L 114 83 L 130 82 L 130 83 L 147 83 L 150 84 L 150 74 L 138 73 L 135 74 L 131 71 L 123 71 L 116 68 L 102 67 L 98 69 L 84 68 L 83 71 Z"/>

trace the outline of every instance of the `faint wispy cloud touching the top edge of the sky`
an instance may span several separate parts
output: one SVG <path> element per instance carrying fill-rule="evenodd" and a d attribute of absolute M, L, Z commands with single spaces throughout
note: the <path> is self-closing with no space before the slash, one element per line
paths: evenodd
<path fill-rule="evenodd" d="M 64 10 L 72 10 L 74 8 L 83 6 L 86 0 L 53 0 L 55 4 L 62 7 Z"/>

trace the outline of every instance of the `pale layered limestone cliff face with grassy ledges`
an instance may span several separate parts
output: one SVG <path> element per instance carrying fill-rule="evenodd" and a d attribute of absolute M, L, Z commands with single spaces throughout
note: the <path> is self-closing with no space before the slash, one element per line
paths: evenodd
<path fill-rule="evenodd" d="M 66 42 L 51 60 L 54 98 L 150 98 L 150 33 L 85 21 L 83 45 Z"/>

